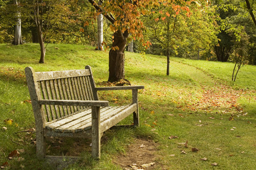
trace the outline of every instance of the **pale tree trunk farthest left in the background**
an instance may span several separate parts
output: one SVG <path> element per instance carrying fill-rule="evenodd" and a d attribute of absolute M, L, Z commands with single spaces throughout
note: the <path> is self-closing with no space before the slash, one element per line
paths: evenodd
<path fill-rule="evenodd" d="M 13 0 L 13 3 L 17 6 L 17 0 Z M 15 26 L 14 39 L 12 44 L 19 45 L 22 44 L 22 19 L 20 19 L 20 12 L 17 12 L 17 23 Z"/>

